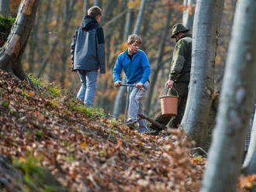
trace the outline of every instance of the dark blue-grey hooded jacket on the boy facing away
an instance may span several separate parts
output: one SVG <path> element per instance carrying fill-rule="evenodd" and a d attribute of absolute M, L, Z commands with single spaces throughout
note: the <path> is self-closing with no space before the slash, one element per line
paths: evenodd
<path fill-rule="evenodd" d="M 98 70 L 106 73 L 104 33 L 96 19 L 86 15 L 71 44 L 71 62 L 74 70 Z"/>

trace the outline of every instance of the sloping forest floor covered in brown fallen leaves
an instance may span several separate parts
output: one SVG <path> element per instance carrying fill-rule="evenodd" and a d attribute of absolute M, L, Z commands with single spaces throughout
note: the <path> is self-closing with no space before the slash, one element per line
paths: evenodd
<path fill-rule="evenodd" d="M 0 70 L 1 191 L 199 191 L 206 158 L 182 130 L 141 134 L 33 82 Z"/>

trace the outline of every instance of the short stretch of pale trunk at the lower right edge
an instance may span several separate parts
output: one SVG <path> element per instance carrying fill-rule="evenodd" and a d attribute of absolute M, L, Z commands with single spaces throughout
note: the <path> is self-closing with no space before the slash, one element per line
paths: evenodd
<path fill-rule="evenodd" d="M 254 111 L 254 120 L 251 129 L 251 139 L 247 156 L 244 159 L 244 173 L 247 175 L 256 173 L 256 110 Z"/>

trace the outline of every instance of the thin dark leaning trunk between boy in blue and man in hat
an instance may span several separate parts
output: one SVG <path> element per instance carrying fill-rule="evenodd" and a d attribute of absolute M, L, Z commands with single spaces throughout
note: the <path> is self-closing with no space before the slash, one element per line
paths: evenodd
<path fill-rule="evenodd" d="M 154 65 L 154 68 L 152 68 L 150 87 L 149 87 L 149 91 L 147 94 L 146 105 L 145 105 L 145 108 L 146 108 L 145 113 L 146 114 L 148 114 L 150 111 L 150 103 L 151 103 L 152 95 L 154 92 L 154 85 L 156 84 L 156 81 L 157 81 L 158 72 L 161 70 L 161 67 L 162 67 L 161 61 L 163 60 L 164 46 L 165 46 L 165 42 L 166 42 L 166 37 L 168 35 L 170 21 L 171 21 L 171 9 L 169 8 L 168 13 L 167 13 L 165 28 L 163 31 L 161 43 L 159 45 L 159 49 L 158 49 L 158 53 L 157 53 L 157 61 Z"/>

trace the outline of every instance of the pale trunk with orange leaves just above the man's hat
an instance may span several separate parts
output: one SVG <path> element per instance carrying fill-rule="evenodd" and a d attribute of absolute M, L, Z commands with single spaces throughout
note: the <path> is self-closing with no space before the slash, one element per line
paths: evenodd
<path fill-rule="evenodd" d="M 195 13 L 195 0 L 184 0 L 183 5 L 185 6 L 185 11 L 183 12 L 182 23 L 185 28 L 192 29 Z"/>

